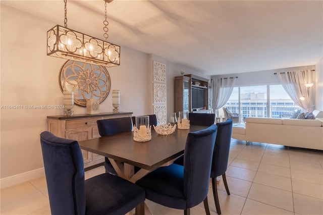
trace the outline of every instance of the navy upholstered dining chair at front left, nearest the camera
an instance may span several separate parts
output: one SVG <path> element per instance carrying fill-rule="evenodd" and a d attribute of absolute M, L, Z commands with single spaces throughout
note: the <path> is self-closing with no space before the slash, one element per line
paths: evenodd
<path fill-rule="evenodd" d="M 53 215 L 144 213 L 145 191 L 118 176 L 104 173 L 84 180 L 79 143 L 40 134 L 50 211 Z"/>

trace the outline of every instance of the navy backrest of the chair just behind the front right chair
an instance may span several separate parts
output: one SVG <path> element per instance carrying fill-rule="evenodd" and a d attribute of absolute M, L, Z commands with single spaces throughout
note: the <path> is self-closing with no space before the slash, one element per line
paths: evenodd
<path fill-rule="evenodd" d="M 232 119 L 228 119 L 223 123 L 217 123 L 217 126 L 218 134 L 213 151 L 211 178 L 221 176 L 227 171 L 232 133 Z"/>

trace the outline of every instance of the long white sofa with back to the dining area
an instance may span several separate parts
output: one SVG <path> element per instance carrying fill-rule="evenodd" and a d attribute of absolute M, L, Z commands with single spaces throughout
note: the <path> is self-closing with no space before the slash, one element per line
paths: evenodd
<path fill-rule="evenodd" d="M 323 150 L 323 112 L 313 115 L 315 120 L 249 117 L 244 125 L 234 125 L 232 138 Z"/>

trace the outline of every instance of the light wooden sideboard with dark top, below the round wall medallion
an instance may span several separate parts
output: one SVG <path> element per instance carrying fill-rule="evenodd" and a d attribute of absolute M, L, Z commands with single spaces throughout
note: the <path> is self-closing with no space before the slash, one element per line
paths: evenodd
<path fill-rule="evenodd" d="M 47 116 L 47 130 L 52 134 L 67 139 L 82 141 L 100 137 L 97 129 L 97 120 L 131 117 L 131 112 L 81 114 L 72 117 Z M 89 151 L 81 150 L 84 159 L 84 168 L 104 162 L 104 157 Z"/>

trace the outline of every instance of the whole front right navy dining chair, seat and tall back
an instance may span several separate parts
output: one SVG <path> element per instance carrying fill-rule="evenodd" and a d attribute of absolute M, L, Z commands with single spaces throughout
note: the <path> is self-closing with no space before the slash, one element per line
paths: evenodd
<path fill-rule="evenodd" d="M 138 180 L 136 184 L 145 189 L 146 199 L 184 209 L 184 214 L 203 201 L 206 214 L 210 214 L 207 192 L 217 129 L 212 125 L 187 135 L 184 166 L 159 167 Z"/>

